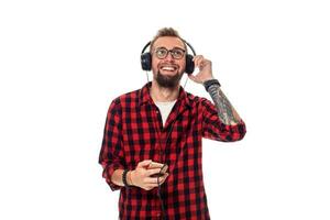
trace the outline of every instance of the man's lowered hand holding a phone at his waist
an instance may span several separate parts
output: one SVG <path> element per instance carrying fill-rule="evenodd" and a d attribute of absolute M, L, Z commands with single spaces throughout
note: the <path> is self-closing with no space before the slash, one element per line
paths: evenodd
<path fill-rule="evenodd" d="M 151 190 L 158 186 L 157 177 L 151 177 L 154 174 L 158 174 L 162 168 L 162 164 L 154 166 L 154 163 L 151 160 L 140 162 L 134 170 L 131 172 L 131 180 L 134 186 L 143 188 L 145 190 Z M 168 173 L 164 173 L 160 177 L 160 185 L 162 185 L 167 178 Z"/>

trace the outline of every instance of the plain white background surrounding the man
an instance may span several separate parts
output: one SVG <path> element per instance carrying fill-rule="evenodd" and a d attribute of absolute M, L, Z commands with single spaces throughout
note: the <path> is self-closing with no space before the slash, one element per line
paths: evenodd
<path fill-rule="evenodd" d="M 1 1 L 0 219 L 118 217 L 98 165 L 106 113 L 145 84 L 141 50 L 173 26 L 248 125 L 241 142 L 204 142 L 212 219 L 329 220 L 327 3 Z"/>

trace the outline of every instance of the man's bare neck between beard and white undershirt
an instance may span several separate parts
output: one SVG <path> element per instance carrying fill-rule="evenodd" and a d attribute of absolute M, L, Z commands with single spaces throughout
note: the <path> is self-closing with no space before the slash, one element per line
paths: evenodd
<path fill-rule="evenodd" d="M 178 97 L 179 88 L 179 85 L 175 88 L 164 88 L 153 80 L 150 92 L 153 101 L 174 101 Z"/>

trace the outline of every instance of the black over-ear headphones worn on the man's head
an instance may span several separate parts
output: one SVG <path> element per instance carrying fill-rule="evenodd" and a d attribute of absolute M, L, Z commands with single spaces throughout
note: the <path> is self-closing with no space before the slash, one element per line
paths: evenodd
<path fill-rule="evenodd" d="M 186 42 L 185 40 L 183 40 L 185 42 L 186 45 L 189 46 L 189 48 L 191 50 L 194 56 L 196 56 L 196 52 L 194 50 L 194 47 L 188 43 Z M 146 47 L 148 47 L 151 44 L 151 42 L 147 42 L 147 44 L 143 47 L 142 52 L 141 52 L 141 66 L 142 66 L 142 69 L 143 70 L 151 70 L 152 68 L 152 55 L 150 52 L 147 53 L 144 53 L 144 51 L 146 50 Z M 190 54 L 186 54 L 186 69 L 185 72 L 187 74 L 193 74 L 194 73 L 194 69 L 195 69 L 195 64 L 193 62 L 193 58 L 194 58 L 193 55 Z"/>

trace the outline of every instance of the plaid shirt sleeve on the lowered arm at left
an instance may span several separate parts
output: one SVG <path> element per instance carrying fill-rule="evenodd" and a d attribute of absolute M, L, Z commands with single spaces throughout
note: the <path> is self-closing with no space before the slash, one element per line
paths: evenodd
<path fill-rule="evenodd" d="M 120 117 L 119 99 L 113 100 L 109 107 L 103 132 L 102 147 L 99 163 L 103 167 L 102 176 L 111 190 L 118 190 L 118 186 L 111 182 L 111 175 L 118 168 L 124 169 L 124 155 L 122 143 L 122 124 Z"/>

